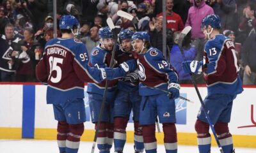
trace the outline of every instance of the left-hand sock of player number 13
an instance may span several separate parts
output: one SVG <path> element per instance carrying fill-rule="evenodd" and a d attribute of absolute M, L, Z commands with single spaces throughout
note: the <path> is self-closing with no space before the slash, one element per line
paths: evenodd
<path fill-rule="evenodd" d="M 209 124 L 196 120 L 195 130 L 197 133 L 197 143 L 200 153 L 209 153 L 211 150 L 211 135 L 209 133 Z"/>

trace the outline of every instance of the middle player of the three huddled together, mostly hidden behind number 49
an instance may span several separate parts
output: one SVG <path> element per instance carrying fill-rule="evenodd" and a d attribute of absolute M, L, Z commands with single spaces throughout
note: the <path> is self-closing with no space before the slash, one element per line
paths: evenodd
<path fill-rule="evenodd" d="M 118 34 L 120 52 L 118 63 L 132 59 L 131 37 L 132 31 L 125 29 Z M 139 112 L 141 96 L 139 95 L 138 73 L 132 72 L 127 77 L 118 80 L 118 92 L 114 106 L 114 144 L 115 152 L 122 153 L 126 141 L 127 122 L 131 110 L 134 120 L 134 149 L 135 152 L 143 152 L 142 128 L 139 125 Z"/>

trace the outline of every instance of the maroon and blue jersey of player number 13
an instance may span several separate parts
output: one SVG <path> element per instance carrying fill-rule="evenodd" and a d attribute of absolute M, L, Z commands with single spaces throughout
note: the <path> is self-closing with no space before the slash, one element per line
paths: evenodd
<path fill-rule="evenodd" d="M 209 93 L 239 94 L 243 90 L 238 77 L 239 63 L 234 42 L 223 35 L 217 35 L 205 44 L 207 75 L 205 82 Z"/>

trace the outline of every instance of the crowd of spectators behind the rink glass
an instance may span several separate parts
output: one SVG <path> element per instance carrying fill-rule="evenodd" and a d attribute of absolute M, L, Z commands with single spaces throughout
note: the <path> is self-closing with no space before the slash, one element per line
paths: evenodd
<path fill-rule="evenodd" d="M 52 0 L 0 0 L 1 82 L 36 82 L 35 66 L 45 43 L 54 35 L 52 3 Z M 138 18 L 138 30 L 150 34 L 152 47 L 163 50 L 162 3 L 161 0 L 58 0 L 56 16 L 58 21 L 64 14 L 79 20 L 81 33 L 77 38 L 90 53 L 99 44 L 98 31 L 106 26 L 108 17 L 116 25 L 136 31 L 130 20 L 116 15 L 123 10 Z M 244 84 L 256 84 L 256 0 L 166 0 L 166 48 L 180 82 L 190 83 L 180 66 L 182 57 L 177 47 L 180 31 L 188 25 L 192 27 L 183 44 L 185 55 L 187 60 L 202 60 L 205 40 L 200 23 L 212 13 L 221 17 L 221 33 L 234 41 Z"/>

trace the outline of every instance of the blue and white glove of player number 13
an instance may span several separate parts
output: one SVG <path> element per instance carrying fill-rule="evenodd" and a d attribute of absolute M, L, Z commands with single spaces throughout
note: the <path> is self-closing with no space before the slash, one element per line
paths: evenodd
<path fill-rule="evenodd" d="M 184 61 L 182 62 L 182 69 L 185 73 L 200 74 L 203 64 L 203 61 Z"/>

